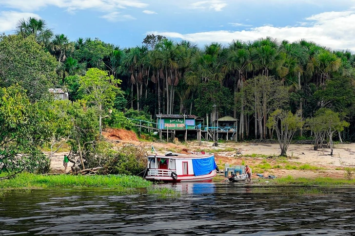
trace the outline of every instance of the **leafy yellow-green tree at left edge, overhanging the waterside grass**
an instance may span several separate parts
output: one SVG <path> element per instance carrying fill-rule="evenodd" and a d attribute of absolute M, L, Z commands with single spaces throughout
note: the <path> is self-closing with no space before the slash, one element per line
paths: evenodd
<path fill-rule="evenodd" d="M 64 128 L 49 105 L 30 103 L 18 85 L 0 89 L 0 172 L 33 172 L 47 164 L 40 147 Z"/>

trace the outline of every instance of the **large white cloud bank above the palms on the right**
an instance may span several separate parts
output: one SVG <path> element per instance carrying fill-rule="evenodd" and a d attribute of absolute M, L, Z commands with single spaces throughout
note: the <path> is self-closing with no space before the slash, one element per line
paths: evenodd
<path fill-rule="evenodd" d="M 355 51 L 355 11 L 326 12 L 306 18 L 310 21 L 306 26 L 275 27 L 264 25 L 241 31 L 207 31 L 192 34 L 177 32 L 149 32 L 171 38 L 185 39 L 199 44 L 213 41 L 230 43 L 233 39 L 244 41 L 256 40 L 260 37 L 276 37 L 278 40 L 291 42 L 300 39 L 312 40 L 332 49 L 350 49 Z"/>

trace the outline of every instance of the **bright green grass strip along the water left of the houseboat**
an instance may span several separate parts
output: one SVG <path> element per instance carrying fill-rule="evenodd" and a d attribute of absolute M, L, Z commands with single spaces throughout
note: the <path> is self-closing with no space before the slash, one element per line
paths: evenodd
<path fill-rule="evenodd" d="M 107 187 L 125 191 L 131 188 L 144 188 L 151 185 L 137 176 L 126 175 L 36 175 L 18 174 L 9 180 L 0 181 L 0 189 L 31 189 L 52 187 Z"/>

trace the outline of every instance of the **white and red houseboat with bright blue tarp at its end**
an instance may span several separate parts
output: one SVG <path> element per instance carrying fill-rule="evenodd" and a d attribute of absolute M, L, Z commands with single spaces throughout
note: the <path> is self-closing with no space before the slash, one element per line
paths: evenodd
<path fill-rule="evenodd" d="M 217 175 L 214 154 L 204 152 L 147 156 L 144 179 L 163 182 L 207 182 Z"/>

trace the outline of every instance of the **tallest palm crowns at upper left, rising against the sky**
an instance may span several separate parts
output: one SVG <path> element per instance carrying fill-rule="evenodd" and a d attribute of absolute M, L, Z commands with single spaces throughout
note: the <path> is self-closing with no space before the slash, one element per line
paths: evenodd
<path fill-rule="evenodd" d="M 37 42 L 44 43 L 45 45 L 53 36 L 52 30 L 47 28 L 45 20 L 33 17 L 26 20 L 23 18 L 20 19 L 16 25 L 15 32 L 22 37 L 34 35 Z"/>

